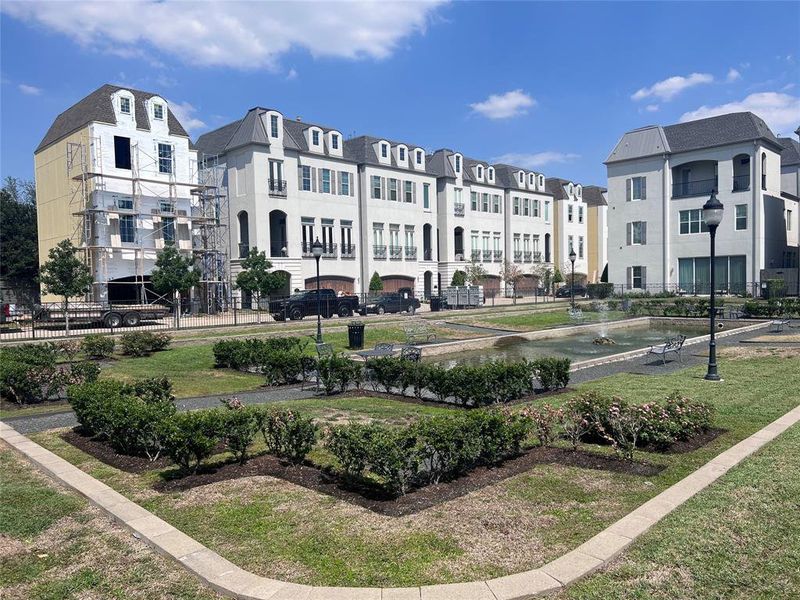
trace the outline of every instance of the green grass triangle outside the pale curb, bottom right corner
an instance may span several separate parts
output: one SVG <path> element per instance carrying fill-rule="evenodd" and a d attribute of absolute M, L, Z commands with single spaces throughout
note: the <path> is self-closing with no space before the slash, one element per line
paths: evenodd
<path fill-rule="evenodd" d="M 795 425 L 562 596 L 800 597 L 798 457 Z"/>

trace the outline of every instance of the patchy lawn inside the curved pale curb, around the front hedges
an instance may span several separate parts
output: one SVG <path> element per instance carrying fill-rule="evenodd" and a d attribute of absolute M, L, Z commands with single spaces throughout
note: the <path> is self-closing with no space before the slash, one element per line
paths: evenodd
<path fill-rule="evenodd" d="M 711 402 L 717 410 L 715 425 L 727 431 L 705 447 L 684 454 L 637 452 L 637 460 L 663 467 L 650 477 L 538 464 L 523 474 L 401 517 L 377 514 L 271 477 L 161 494 L 151 488 L 160 479 L 157 471 L 122 473 L 52 432 L 33 437 L 226 558 L 260 574 L 318 585 L 467 581 L 534 568 L 560 556 L 770 423 L 800 403 L 792 378 L 786 377 L 798 369 L 798 352 L 747 359 L 725 356 L 720 360 L 725 381 L 718 384 L 704 381 L 704 369 L 698 367 L 661 376 L 617 375 L 582 385 L 581 390 L 618 394 L 634 402 L 661 399 L 679 390 Z M 551 396 L 547 401 L 558 404 L 568 397 Z M 286 404 L 328 422 L 352 418 L 397 423 L 447 410 L 336 397 Z M 585 450 L 610 452 L 596 446 Z M 312 458 L 324 463 L 324 454 L 318 449 Z M 704 529 L 695 527 L 695 531 Z M 773 542 L 780 544 L 782 538 L 779 530 Z M 609 595 L 614 596 L 596 597 Z"/>

